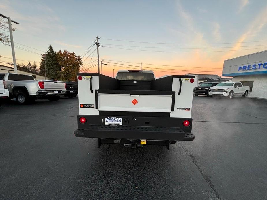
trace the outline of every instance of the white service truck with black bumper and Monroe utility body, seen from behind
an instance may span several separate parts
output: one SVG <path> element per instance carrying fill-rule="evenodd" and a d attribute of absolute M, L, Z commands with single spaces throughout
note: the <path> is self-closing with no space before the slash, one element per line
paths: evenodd
<path fill-rule="evenodd" d="M 116 78 L 78 73 L 79 115 L 76 137 L 98 138 L 125 147 L 192 141 L 195 76 L 155 79 L 149 70 L 119 70 Z"/>

